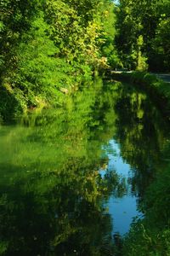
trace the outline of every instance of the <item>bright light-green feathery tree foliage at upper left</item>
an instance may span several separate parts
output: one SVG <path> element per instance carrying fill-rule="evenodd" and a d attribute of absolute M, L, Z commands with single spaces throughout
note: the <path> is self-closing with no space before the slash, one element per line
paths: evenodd
<path fill-rule="evenodd" d="M 59 49 L 48 38 L 47 30 L 48 26 L 42 18 L 34 20 L 30 32 L 23 35 L 22 42 L 16 48 L 17 68 L 9 83 L 14 89 L 20 88 L 31 103 L 35 101 L 35 96 L 49 98 L 50 94 L 57 95 L 56 89 L 61 81 L 65 83 L 65 73 L 61 71 L 69 68 L 65 60 L 56 57 Z"/>

